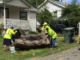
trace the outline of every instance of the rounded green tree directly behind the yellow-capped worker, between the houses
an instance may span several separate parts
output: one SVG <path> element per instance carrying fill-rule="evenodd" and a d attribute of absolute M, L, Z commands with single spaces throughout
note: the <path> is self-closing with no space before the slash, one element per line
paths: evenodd
<path fill-rule="evenodd" d="M 47 9 L 44 9 L 44 11 L 37 13 L 37 20 L 43 24 L 44 22 L 50 23 L 51 20 L 53 20 L 52 13 L 50 13 Z"/>

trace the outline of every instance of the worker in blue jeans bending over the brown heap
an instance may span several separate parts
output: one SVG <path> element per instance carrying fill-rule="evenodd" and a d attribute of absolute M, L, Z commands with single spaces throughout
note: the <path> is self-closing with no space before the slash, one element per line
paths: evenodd
<path fill-rule="evenodd" d="M 46 28 L 46 31 L 50 37 L 51 40 L 51 48 L 53 49 L 55 47 L 55 42 L 56 42 L 56 38 L 57 38 L 57 33 L 49 28 Z"/>

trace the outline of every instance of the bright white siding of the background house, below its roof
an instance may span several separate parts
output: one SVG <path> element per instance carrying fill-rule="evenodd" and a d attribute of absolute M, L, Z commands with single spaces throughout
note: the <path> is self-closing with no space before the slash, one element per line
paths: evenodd
<path fill-rule="evenodd" d="M 61 17 L 63 7 L 56 5 L 52 2 L 48 2 L 46 3 L 46 5 L 39 9 L 39 12 L 43 11 L 44 8 L 47 8 L 52 13 L 52 15 L 54 15 L 54 11 L 57 11 L 57 18 Z"/>

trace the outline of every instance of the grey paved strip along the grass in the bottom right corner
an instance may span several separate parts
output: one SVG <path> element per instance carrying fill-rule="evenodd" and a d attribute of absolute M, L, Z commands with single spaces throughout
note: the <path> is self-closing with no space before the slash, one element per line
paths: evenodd
<path fill-rule="evenodd" d="M 52 54 L 40 58 L 31 58 L 26 60 L 80 60 L 79 48 L 80 47 L 76 47 L 57 54 Z"/>

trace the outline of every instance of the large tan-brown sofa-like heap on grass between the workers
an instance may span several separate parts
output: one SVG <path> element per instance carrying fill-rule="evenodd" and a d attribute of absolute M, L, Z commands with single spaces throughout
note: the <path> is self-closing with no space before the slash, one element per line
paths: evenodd
<path fill-rule="evenodd" d="M 24 36 L 20 35 L 19 38 L 16 38 L 14 41 L 15 47 L 19 48 L 35 48 L 35 47 L 43 47 L 50 44 L 50 41 L 45 35 L 44 32 L 40 34 Z"/>

